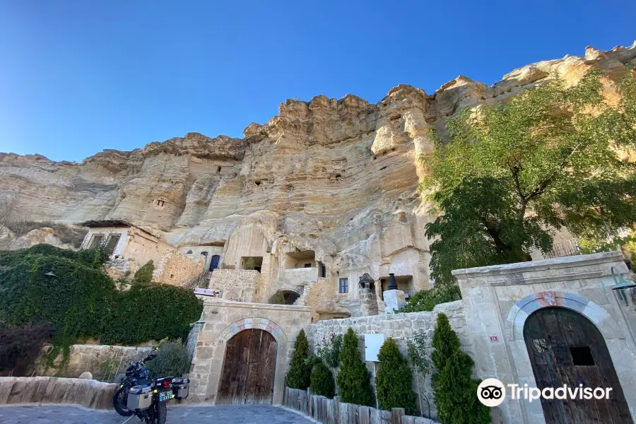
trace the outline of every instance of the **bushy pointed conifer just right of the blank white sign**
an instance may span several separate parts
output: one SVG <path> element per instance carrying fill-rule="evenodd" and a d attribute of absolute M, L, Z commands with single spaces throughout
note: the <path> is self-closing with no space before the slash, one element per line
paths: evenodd
<path fill-rule="evenodd" d="M 393 338 L 384 341 L 377 358 L 375 389 L 380 409 L 404 408 L 406 415 L 412 415 L 416 411 L 417 397 L 411 390 L 413 375 Z"/>

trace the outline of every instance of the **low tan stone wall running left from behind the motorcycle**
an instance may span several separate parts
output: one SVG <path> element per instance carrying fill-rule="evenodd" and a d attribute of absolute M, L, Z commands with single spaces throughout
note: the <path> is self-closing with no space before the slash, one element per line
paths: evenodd
<path fill-rule="evenodd" d="M 117 384 L 91 379 L 57 377 L 0 377 L 0 405 L 77 404 L 110 409 Z"/>

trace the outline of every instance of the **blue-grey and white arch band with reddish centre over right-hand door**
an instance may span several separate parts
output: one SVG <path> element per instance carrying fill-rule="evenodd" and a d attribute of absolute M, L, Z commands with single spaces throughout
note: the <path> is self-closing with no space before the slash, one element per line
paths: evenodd
<path fill-rule="evenodd" d="M 565 307 L 589 319 L 603 334 L 603 338 L 624 338 L 618 323 L 603 307 L 584 296 L 560 291 L 543 291 L 522 298 L 512 306 L 505 322 L 505 336 L 509 341 L 524 341 L 526 319 L 544 307 Z"/>

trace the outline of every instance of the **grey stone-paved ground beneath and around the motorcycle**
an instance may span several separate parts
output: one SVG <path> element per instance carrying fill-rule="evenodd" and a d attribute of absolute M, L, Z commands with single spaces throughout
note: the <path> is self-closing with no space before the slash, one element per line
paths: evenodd
<path fill-rule="evenodd" d="M 121 424 L 114 411 L 76 406 L 0 406 L 2 424 Z M 275 406 L 168 406 L 166 424 L 310 424 L 312 421 Z M 138 418 L 127 424 L 141 424 Z"/>

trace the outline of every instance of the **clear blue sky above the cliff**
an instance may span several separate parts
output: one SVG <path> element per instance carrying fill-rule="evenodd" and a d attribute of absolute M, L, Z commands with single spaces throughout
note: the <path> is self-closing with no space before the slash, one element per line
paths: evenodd
<path fill-rule="evenodd" d="M 191 131 L 240 137 L 286 98 L 492 84 L 631 45 L 635 19 L 633 0 L 0 0 L 0 151 L 81 161 Z"/>

